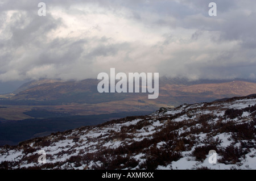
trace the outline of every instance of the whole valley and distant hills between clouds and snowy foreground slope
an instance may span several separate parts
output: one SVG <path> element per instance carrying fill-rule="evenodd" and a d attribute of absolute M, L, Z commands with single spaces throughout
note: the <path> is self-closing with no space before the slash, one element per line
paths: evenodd
<path fill-rule="evenodd" d="M 0 145 L 16 145 L 35 136 L 145 115 L 161 107 L 250 95 L 256 90 L 256 83 L 242 80 L 191 82 L 160 78 L 158 99 L 148 99 L 147 93 L 100 94 L 97 83 L 96 79 L 43 79 L 0 96 Z"/>

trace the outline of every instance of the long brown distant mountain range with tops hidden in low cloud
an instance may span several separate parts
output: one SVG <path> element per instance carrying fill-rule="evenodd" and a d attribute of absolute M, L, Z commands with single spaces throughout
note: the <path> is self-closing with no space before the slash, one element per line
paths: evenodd
<path fill-rule="evenodd" d="M 108 94 L 100 94 L 97 92 L 97 79 L 85 79 L 83 81 L 57 81 L 42 80 L 34 81 L 21 86 L 16 92 L 17 94 L 11 98 L 12 100 L 60 100 L 62 102 L 109 102 L 117 99 L 131 99 L 131 97 L 142 96 L 142 94 L 118 94 L 111 96 L 113 99 L 102 98 L 101 95 L 108 97 Z M 200 82 L 200 83 L 199 83 Z M 218 99 L 225 96 L 245 96 L 254 94 L 256 83 L 246 81 L 193 81 L 179 78 L 160 78 L 159 83 L 159 99 L 156 102 L 166 103 L 166 95 L 171 97 L 187 97 L 185 102 L 196 103 L 196 96 L 201 98 Z M 110 94 L 109 94 L 110 95 Z M 111 94 L 113 95 L 113 94 Z M 146 94 L 145 94 L 146 95 Z M 100 97 L 100 100 L 98 100 Z M 164 98 L 163 99 L 161 99 Z M 93 100 L 89 100 L 93 98 Z M 147 96 L 145 96 L 147 98 Z M 191 100 L 189 100 L 192 98 Z M 200 99 L 200 98 L 199 98 Z M 171 100 L 171 99 L 170 99 Z M 195 101 L 194 101 L 195 100 Z M 153 100 L 154 101 L 154 100 Z M 176 100 L 179 102 L 179 100 Z M 185 103 L 182 102 L 182 103 Z M 170 102 L 172 105 L 172 103 Z M 180 104 L 180 103 L 178 103 Z M 175 104 L 177 106 L 177 104 Z"/>

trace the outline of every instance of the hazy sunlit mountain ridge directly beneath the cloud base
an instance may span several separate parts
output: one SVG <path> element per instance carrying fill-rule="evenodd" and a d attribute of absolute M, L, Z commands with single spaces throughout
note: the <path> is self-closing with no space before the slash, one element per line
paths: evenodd
<path fill-rule="evenodd" d="M 181 82 L 179 82 L 181 81 Z M 96 94 L 102 95 L 97 92 L 97 79 L 85 79 L 82 81 L 56 81 L 46 80 L 39 81 L 32 85 L 29 84 L 28 89 L 19 91 L 14 95 L 12 100 L 56 100 L 62 96 L 72 96 L 73 94 Z M 212 83 L 216 81 L 194 81 L 194 83 L 187 83 L 184 79 L 168 79 L 161 78 L 159 81 L 159 94 L 164 96 L 171 92 L 168 96 L 189 96 L 189 94 L 212 94 L 212 97 L 223 98 L 223 96 L 246 96 L 254 94 L 256 90 L 256 83 L 247 81 L 218 81 L 220 83 Z M 200 82 L 200 83 L 199 83 Z M 22 86 L 24 87 L 24 86 Z M 20 89 L 21 90 L 21 89 Z M 117 96 L 125 95 L 130 98 L 131 94 L 118 94 Z M 106 94 L 105 94 L 106 95 Z M 142 95 L 142 94 L 137 94 Z M 81 96 L 80 96 L 81 98 Z"/>

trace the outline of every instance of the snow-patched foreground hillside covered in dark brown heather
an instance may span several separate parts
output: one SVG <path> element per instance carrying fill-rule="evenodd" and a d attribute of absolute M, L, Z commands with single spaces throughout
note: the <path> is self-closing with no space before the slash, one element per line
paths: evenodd
<path fill-rule="evenodd" d="M 255 103 L 251 95 L 184 104 L 2 146 L 0 168 L 256 169 Z M 208 162 L 210 150 L 216 164 Z"/>

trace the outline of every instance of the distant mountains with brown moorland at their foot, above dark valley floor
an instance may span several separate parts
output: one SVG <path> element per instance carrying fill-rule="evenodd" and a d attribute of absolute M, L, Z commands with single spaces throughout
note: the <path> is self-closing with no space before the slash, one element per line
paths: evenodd
<path fill-rule="evenodd" d="M 148 93 L 101 94 L 97 91 L 98 82 L 97 79 L 28 82 L 16 90 L 15 95 L 0 96 L 0 106 L 5 107 L 0 109 L 0 120 L 29 119 L 38 112 L 47 112 L 47 115 L 95 115 L 155 111 L 160 107 L 177 107 L 184 103 L 211 102 L 256 93 L 253 81 L 189 81 L 162 77 L 159 79 L 159 97 L 148 99 Z"/>

